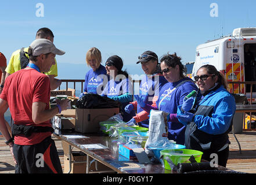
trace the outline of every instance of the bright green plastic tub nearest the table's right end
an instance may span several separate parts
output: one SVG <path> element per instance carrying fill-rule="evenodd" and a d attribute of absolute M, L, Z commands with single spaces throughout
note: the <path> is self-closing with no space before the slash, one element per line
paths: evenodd
<path fill-rule="evenodd" d="M 165 159 L 165 157 L 170 158 L 171 162 L 174 165 L 178 165 L 178 163 L 183 163 L 183 162 L 190 162 L 189 158 L 191 156 L 194 156 L 195 160 L 197 162 L 201 162 L 201 157 L 203 155 L 203 152 L 198 151 L 198 150 L 190 150 L 190 149 L 174 149 L 174 150 L 161 150 L 160 151 L 161 156 L 161 163 L 164 166 L 165 169 L 172 170 L 171 166 Z"/>

